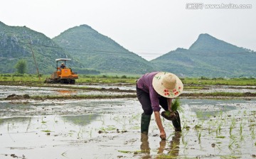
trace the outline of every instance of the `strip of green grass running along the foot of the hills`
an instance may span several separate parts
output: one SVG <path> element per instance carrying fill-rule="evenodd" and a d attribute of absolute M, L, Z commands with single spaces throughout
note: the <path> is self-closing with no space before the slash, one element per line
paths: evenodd
<path fill-rule="evenodd" d="M 42 75 L 41 82 L 38 75 L 16 75 L 16 74 L 0 74 L 0 84 L 21 85 L 21 84 L 43 84 L 43 81 L 50 77 L 50 75 Z M 102 84 L 136 84 L 138 76 L 127 75 L 79 75 L 79 79 L 76 83 L 102 83 Z M 183 84 L 186 84 L 185 89 L 203 89 L 202 85 L 238 85 L 238 86 L 255 86 L 256 79 L 252 77 L 241 78 L 183 78 L 181 79 Z"/>

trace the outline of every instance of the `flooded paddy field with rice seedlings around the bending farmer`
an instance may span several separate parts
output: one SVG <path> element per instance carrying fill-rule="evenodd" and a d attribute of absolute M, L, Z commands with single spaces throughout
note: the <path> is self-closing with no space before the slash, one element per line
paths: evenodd
<path fill-rule="evenodd" d="M 183 129 L 175 133 L 163 119 L 166 141 L 159 138 L 154 116 L 149 136 L 141 135 L 136 98 L 5 99 L 59 90 L 70 94 L 1 86 L 0 158 L 256 158 L 256 99 L 181 98 Z"/>

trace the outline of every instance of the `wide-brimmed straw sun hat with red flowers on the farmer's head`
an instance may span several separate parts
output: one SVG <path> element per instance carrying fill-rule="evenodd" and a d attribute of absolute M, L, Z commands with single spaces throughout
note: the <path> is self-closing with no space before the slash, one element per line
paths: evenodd
<path fill-rule="evenodd" d="M 153 78 L 155 91 L 163 97 L 175 98 L 183 91 L 183 83 L 176 75 L 169 72 L 159 72 Z"/>

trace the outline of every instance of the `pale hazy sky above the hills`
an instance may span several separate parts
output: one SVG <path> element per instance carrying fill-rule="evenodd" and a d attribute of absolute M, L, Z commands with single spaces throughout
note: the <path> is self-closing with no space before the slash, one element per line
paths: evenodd
<path fill-rule="evenodd" d="M 231 9 L 244 4 L 252 8 Z M 256 50 L 255 0 L 1 0 L 0 21 L 49 38 L 87 24 L 146 60 L 189 48 L 201 33 Z"/>

